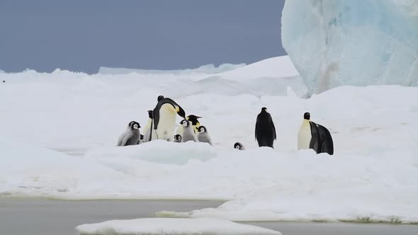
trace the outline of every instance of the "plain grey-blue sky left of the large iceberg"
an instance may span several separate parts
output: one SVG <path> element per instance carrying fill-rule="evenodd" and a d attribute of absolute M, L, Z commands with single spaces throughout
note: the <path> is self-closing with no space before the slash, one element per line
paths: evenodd
<path fill-rule="evenodd" d="M 286 55 L 284 0 L 0 1 L 0 69 L 186 69 Z"/>

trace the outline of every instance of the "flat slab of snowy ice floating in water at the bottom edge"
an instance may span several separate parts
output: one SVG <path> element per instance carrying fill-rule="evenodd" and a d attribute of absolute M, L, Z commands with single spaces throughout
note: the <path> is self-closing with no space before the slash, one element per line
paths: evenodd
<path fill-rule="evenodd" d="M 281 235 L 278 231 L 220 219 L 129 219 L 98 224 L 83 224 L 76 228 L 81 235 Z"/>

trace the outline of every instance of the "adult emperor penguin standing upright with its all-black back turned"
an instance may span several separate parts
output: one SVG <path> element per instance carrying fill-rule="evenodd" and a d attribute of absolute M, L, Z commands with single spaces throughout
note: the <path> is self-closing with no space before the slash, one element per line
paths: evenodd
<path fill-rule="evenodd" d="M 276 127 L 273 119 L 270 113 L 267 113 L 267 108 L 261 108 L 256 121 L 256 140 L 259 142 L 259 147 L 273 148 L 274 139 L 276 139 Z"/>

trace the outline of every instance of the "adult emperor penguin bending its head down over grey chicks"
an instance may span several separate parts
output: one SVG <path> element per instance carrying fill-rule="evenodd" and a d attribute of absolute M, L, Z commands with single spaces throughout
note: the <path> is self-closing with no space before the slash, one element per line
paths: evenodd
<path fill-rule="evenodd" d="M 166 141 L 171 141 L 176 131 L 176 114 L 186 118 L 186 113 L 171 98 L 159 96 L 158 100 L 157 105 L 152 111 L 152 130 L 148 139 L 165 139 Z"/>

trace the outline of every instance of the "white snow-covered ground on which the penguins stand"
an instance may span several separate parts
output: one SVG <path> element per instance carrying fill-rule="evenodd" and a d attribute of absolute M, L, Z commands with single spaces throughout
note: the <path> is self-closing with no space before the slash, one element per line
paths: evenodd
<path fill-rule="evenodd" d="M 342 86 L 303 99 L 288 57 L 218 74 L 57 70 L 0 80 L 0 195 L 225 199 L 216 209 L 159 214 L 235 221 L 418 222 L 416 87 Z M 114 147 L 128 122 L 145 126 L 159 95 L 202 116 L 215 147 Z M 275 149 L 254 141 L 264 106 Z M 295 150 L 306 111 L 332 132 L 334 156 Z"/>

